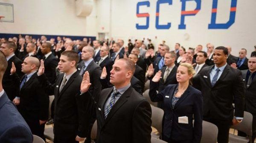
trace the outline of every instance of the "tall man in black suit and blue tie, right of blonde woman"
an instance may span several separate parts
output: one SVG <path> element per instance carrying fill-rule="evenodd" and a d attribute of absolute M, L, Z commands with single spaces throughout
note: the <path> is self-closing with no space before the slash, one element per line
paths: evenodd
<path fill-rule="evenodd" d="M 227 65 L 227 54 L 227 48 L 215 48 L 215 65 L 204 67 L 193 80 L 193 85 L 201 90 L 204 97 L 204 120 L 218 127 L 218 143 L 228 143 L 230 126 L 241 122 L 244 116 L 241 71 Z"/>

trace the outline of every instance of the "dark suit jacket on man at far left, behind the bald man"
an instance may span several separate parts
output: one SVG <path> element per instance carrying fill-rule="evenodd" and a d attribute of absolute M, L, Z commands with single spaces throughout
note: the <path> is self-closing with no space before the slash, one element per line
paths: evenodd
<path fill-rule="evenodd" d="M 13 56 L 11 59 L 8 60 L 8 66 L 6 71 L 3 75 L 3 89 L 5 90 L 6 94 L 8 95 L 9 99 L 12 101 L 15 96 L 19 93 L 19 83 L 12 80 L 11 77 L 11 68 L 12 62 L 14 62 L 16 67 L 16 73 L 21 78 L 23 73 L 21 72 L 21 64 L 22 61 L 17 58 L 17 56 Z"/>

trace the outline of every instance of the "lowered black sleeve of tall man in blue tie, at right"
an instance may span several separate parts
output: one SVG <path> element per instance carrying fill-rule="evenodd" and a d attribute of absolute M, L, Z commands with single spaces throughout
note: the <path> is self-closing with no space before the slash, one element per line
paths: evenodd
<path fill-rule="evenodd" d="M 244 117 L 244 83 L 242 79 L 242 73 L 239 70 L 236 74 L 236 81 L 233 82 L 233 95 L 235 102 L 235 116 Z"/>

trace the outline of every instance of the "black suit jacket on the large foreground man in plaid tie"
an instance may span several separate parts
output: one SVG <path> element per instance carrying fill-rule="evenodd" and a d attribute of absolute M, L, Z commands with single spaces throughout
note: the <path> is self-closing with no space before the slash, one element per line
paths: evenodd
<path fill-rule="evenodd" d="M 113 87 L 100 93 L 97 103 L 97 143 L 150 143 L 151 107 L 143 96 L 129 87 L 116 101 L 107 118 L 104 105 Z M 87 92 L 88 93 L 88 92 Z"/>

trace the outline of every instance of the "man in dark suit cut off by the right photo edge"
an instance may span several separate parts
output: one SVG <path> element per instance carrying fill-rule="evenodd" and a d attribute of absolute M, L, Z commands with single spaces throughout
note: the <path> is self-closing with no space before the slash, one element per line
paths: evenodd
<path fill-rule="evenodd" d="M 248 70 L 242 70 L 242 77 L 245 89 L 245 111 L 253 115 L 253 135 L 250 143 L 254 143 L 256 137 L 256 56 L 250 57 L 248 60 Z M 238 135 L 246 137 L 243 132 L 238 132 Z"/>

